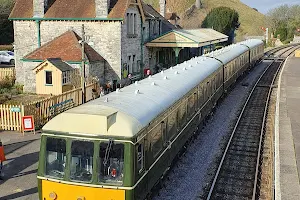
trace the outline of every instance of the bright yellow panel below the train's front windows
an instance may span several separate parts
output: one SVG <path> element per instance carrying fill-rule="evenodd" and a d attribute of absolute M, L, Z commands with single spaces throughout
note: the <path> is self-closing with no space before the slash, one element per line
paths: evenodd
<path fill-rule="evenodd" d="M 125 190 L 69 185 L 42 180 L 42 200 L 124 200 Z"/>

